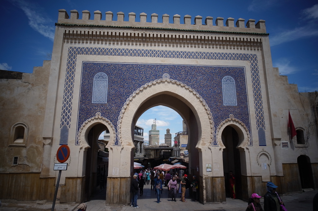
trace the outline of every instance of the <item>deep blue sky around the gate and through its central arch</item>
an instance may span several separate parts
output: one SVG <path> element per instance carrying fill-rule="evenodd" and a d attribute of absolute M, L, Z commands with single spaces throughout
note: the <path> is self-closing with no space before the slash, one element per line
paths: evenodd
<path fill-rule="evenodd" d="M 291 84 L 297 84 L 300 92 L 314 92 L 318 90 L 318 2 L 313 0 L 246 0 L 246 1 L 72 1 L 72 0 L 2 0 L 0 3 L 1 23 L 1 51 L 0 69 L 28 72 L 34 66 L 42 66 L 47 60 L 47 54 L 52 52 L 55 23 L 58 19 L 58 10 L 65 9 L 70 15 L 71 10 L 79 11 L 81 18 L 83 10 L 93 12 L 100 10 L 102 19 L 105 12 L 112 11 L 114 19 L 117 12 L 148 14 L 150 22 L 152 13 L 158 14 L 158 22 L 162 22 L 162 15 L 168 14 L 169 21 L 175 14 L 183 17 L 190 15 L 192 24 L 195 16 L 213 17 L 213 24 L 217 17 L 227 19 L 232 17 L 235 22 L 239 18 L 266 21 L 266 31 L 269 33 L 273 67 L 279 67 L 281 75 L 287 75 Z M 158 116 L 158 111 L 168 112 L 166 107 L 154 108 L 145 112 L 140 118 L 140 126 L 149 126 L 149 119 L 157 119 L 161 139 L 169 127 L 171 133 L 182 130 L 181 117 L 175 117 L 171 112 L 168 116 Z M 175 118 L 174 118 L 175 117 Z M 142 119 L 142 120 L 141 120 Z M 177 119 L 177 120 L 176 120 Z M 181 120 L 180 120 L 181 119 Z M 158 122 L 159 121 L 159 122 Z M 180 124 L 179 128 L 172 128 Z M 148 133 L 150 127 L 145 128 Z M 148 140 L 148 134 L 146 136 Z"/>

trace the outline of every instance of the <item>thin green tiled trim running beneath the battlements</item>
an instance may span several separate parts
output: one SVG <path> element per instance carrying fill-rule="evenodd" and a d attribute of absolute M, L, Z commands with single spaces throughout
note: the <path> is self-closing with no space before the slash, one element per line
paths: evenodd
<path fill-rule="evenodd" d="M 211 30 L 152 28 L 152 27 L 132 27 L 132 26 L 105 26 L 105 25 L 93 25 L 93 24 L 61 24 L 61 23 L 55 23 L 55 25 L 56 25 L 56 26 L 80 26 L 80 27 L 99 27 L 99 28 L 119 28 L 119 29 L 150 29 L 150 30 L 167 30 L 167 31 L 212 32 L 212 33 L 225 33 L 225 34 L 269 35 L 268 33 L 257 33 L 257 32 L 211 31 Z"/>

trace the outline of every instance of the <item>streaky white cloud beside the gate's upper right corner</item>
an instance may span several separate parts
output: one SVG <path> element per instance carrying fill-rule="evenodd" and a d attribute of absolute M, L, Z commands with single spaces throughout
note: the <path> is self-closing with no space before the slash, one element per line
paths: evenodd
<path fill-rule="evenodd" d="M 318 36 L 318 29 L 315 25 L 298 27 L 293 30 L 282 31 L 270 37 L 271 46 L 279 45 L 289 41 L 297 40 L 303 37 Z"/>

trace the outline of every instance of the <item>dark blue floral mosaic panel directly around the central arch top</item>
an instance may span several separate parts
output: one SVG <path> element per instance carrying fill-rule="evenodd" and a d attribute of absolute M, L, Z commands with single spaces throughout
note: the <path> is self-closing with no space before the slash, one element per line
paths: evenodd
<path fill-rule="evenodd" d="M 171 79 L 181 81 L 198 92 L 211 109 L 215 124 L 218 125 L 232 113 L 242 120 L 248 128 L 250 126 L 245 69 L 243 67 L 84 62 L 82 70 L 78 128 L 86 119 L 94 116 L 96 112 L 101 112 L 102 116 L 107 117 L 115 127 L 118 126 L 116 121 L 127 98 L 137 87 L 165 77 L 165 74 L 169 74 Z M 110 83 L 108 105 L 94 105 L 87 100 L 92 92 L 92 80 L 90 78 L 95 72 L 105 72 L 110 80 L 113 81 L 114 78 L 120 82 Z M 224 75 L 231 75 L 238 83 L 238 106 L 223 105 L 221 85 Z M 217 142 L 213 143 L 213 145 L 216 144 Z"/>

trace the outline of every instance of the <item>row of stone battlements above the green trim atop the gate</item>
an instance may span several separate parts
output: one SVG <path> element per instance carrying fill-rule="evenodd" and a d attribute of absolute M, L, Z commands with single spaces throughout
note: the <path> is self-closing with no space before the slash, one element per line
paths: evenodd
<path fill-rule="evenodd" d="M 169 30 L 200 30 L 200 31 L 221 31 L 221 32 L 234 32 L 234 33 L 266 33 L 265 21 L 259 20 L 255 24 L 254 19 L 249 19 L 246 22 L 245 19 L 239 18 L 234 25 L 234 18 L 229 17 L 225 21 L 224 18 L 217 17 L 215 25 L 213 24 L 213 17 L 206 17 L 204 24 L 202 23 L 202 17 L 194 17 L 194 23 L 191 24 L 191 16 L 185 15 L 183 17 L 184 24 L 180 23 L 180 15 L 173 16 L 173 23 L 169 23 L 169 15 L 162 15 L 162 23 L 158 23 L 158 14 L 151 14 L 151 22 L 147 22 L 147 14 L 140 13 L 140 22 L 136 22 L 136 14 L 130 12 L 128 14 L 128 21 L 124 21 L 125 14 L 123 12 L 117 12 L 117 21 L 114 21 L 113 12 L 102 13 L 97 10 L 94 11 L 94 18 L 91 19 L 91 13 L 87 10 L 82 11 L 82 19 L 79 19 L 79 13 L 77 10 L 71 10 L 71 17 L 67 14 L 66 10 L 59 10 L 59 19 L 57 24 L 80 24 L 80 25 L 95 25 L 95 26 L 113 26 L 113 27 L 148 27 L 159 28 Z"/>

